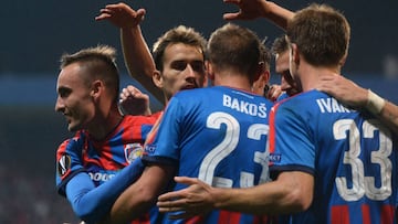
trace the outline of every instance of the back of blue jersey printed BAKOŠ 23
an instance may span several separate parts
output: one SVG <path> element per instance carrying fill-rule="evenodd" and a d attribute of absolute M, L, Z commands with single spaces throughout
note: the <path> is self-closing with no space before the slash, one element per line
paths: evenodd
<path fill-rule="evenodd" d="M 155 154 L 175 160 L 177 175 L 199 178 L 213 186 L 248 188 L 264 182 L 271 106 L 261 96 L 222 86 L 180 92 L 165 111 L 158 132 L 161 146 L 155 146 Z M 174 121 L 166 120 L 170 115 Z M 186 185 L 177 184 L 174 190 L 181 188 Z M 213 212 L 196 222 L 248 223 L 253 218 Z"/>

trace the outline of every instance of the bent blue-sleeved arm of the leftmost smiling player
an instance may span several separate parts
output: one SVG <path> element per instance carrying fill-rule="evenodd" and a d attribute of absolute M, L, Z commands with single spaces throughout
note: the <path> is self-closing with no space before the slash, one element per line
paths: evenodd
<path fill-rule="evenodd" d="M 86 172 L 80 172 L 67 182 L 66 198 L 80 218 L 96 223 L 108 214 L 117 196 L 138 179 L 143 170 L 142 160 L 136 159 L 97 188 Z"/>

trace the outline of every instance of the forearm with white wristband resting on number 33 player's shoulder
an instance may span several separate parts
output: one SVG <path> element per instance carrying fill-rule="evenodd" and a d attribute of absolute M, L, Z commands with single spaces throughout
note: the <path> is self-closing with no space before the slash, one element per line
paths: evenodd
<path fill-rule="evenodd" d="M 363 88 L 342 75 L 321 77 L 317 89 L 329 94 L 347 106 L 367 109 L 398 135 L 398 106 L 385 100 L 370 89 Z"/>

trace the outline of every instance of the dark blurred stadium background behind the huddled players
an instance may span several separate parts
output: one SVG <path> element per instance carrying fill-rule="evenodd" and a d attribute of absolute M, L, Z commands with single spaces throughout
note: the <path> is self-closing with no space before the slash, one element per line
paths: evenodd
<path fill-rule="evenodd" d="M 311 1 L 276 1 L 296 10 Z M 321 1 L 317 1 L 321 3 Z M 55 150 L 71 136 L 53 110 L 59 58 L 96 44 L 118 50 L 122 86 L 134 83 L 124 66 L 118 30 L 94 17 L 108 1 L 3 1 L 0 8 L 0 223 L 77 223 L 67 202 L 55 192 Z M 205 36 L 222 25 L 222 13 L 234 11 L 222 1 L 127 1 L 145 8 L 143 31 L 154 43 L 178 24 Z M 349 57 L 343 74 L 398 103 L 398 1 L 326 1 L 352 25 Z M 282 34 L 263 19 L 238 22 L 261 38 Z M 273 67 L 273 65 L 271 66 Z M 273 72 L 273 71 L 272 71 Z M 279 83 L 276 75 L 272 83 Z M 157 102 L 153 108 L 159 109 Z"/>

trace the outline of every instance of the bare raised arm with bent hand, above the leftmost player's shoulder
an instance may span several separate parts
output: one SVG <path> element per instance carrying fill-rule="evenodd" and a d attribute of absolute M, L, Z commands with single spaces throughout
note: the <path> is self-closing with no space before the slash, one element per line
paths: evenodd
<path fill-rule="evenodd" d="M 108 20 L 121 29 L 122 49 L 129 75 L 159 102 L 164 102 L 161 90 L 151 79 L 156 66 L 139 26 L 145 13 L 145 9 L 133 10 L 125 3 L 107 4 L 95 20 Z"/>

